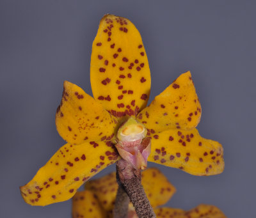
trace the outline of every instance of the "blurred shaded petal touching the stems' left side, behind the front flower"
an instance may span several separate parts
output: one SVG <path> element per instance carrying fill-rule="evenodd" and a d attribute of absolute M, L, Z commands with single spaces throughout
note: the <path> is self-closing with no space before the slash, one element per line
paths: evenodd
<path fill-rule="evenodd" d="M 97 199 L 99 199 L 100 205 L 102 205 L 104 210 L 113 210 L 118 189 L 115 172 L 96 180 L 86 182 L 85 189 L 92 191 L 95 196 L 97 196 Z"/>

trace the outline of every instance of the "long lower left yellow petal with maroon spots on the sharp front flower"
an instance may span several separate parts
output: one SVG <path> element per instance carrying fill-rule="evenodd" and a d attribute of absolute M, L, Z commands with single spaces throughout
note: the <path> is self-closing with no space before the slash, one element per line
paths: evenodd
<path fill-rule="evenodd" d="M 26 203 L 45 206 L 72 198 L 86 180 L 118 159 L 115 147 L 106 143 L 62 146 L 28 184 L 20 187 Z"/>

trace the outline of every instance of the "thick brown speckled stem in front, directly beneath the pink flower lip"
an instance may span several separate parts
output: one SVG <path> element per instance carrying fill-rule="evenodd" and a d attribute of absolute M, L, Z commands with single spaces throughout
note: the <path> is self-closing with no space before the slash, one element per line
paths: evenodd
<path fill-rule="evenodd" d="M 140 169 L 134 169 L 124 159 L 118 160 L 116 162 L 116 179 L 129 196 L 139 218 L 156 218 L 156 214 L 141 185 Z"/>

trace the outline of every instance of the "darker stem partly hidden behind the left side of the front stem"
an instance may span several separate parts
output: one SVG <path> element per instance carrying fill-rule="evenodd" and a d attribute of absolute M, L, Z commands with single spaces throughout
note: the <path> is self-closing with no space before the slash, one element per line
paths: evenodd
<path fill-rule="evenodd" d="M 128 214 L 128 205 L 130 199 L 127 196 L 126 192 L 122 185 L 118 185 L 116 199 L 115 199 L 115 208 L 113 210 L 114 218 L 126 218 Z"/>

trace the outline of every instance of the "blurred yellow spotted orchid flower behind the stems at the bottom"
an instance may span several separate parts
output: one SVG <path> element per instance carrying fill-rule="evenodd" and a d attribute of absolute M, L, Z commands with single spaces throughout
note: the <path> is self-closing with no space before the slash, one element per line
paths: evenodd
<path fill-rule="evenodd" d="M 172 198 L 176 190 L 157 168 L 152 167 L 143 171 L 141 183 L 157 218 L 226 218 L 220 209 L 212 205 L 198 205 L 188 211 L 160 207 Z M 115 172 L 87 182 L 85 190 L 77 192 L 72 198 L 72 217 L 113 217 L 117 189 Z M 138 218 L 131 203 L 127 218 Z"/>

